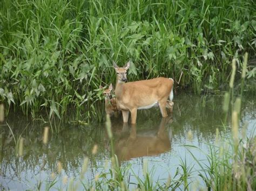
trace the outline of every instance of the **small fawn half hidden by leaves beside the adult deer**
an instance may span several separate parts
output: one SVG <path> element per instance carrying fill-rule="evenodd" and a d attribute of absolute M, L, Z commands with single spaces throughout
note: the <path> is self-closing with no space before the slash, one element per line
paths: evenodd
<path fill-rule="evenodd" d="M 100 89 L 104 89 L 102 86 L 99 86 Z M 117 114 L 120 109 L 118 108 L 118 104 L 116 101 L 116 97 L 110 98 L 111 97 L 111 91 L 112 91 L 112 83 L 110 84 L 109 88 L 104 89 L 103 94 L 105 97 L 105 112 L 106 114 L 109 114 L 112 116 L 113 114 Z"/>

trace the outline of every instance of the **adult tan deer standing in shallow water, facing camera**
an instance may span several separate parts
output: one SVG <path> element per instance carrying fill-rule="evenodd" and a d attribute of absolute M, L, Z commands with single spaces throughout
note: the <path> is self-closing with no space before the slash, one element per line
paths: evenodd
<path fill-rule="evenodd" d="M 166 103 L 168 97 L 173 98 L 173 79 L 157 77 L 151 80 L 127 82 L 126 72 L 130 67 L 127 62 L 124 67 L 118 67 L 113 62 L 117 73 L 116 98 L 119 108 L 122 110 L 123 122 L 128 122 L 129 111 L 131 112 L 131 123 L 136 123 L 137 110 L 149 109 L 158 104 L 161 115 L 167 117 Z"/>

